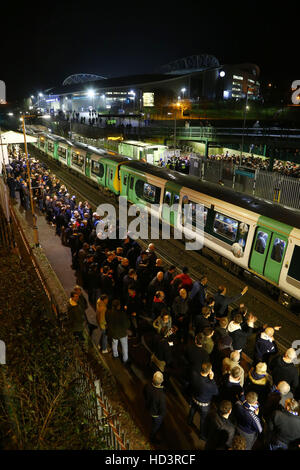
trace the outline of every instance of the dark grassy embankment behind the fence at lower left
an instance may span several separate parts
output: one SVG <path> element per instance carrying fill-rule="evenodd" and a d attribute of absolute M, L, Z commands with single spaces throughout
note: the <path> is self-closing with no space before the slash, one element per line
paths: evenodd
<path fill-rule="evenodd" d="M 103 449 L 86 418 L 73 337 L 52 316 L 32 266 L 1 253 L 0 279 L 0 448 Z"/>

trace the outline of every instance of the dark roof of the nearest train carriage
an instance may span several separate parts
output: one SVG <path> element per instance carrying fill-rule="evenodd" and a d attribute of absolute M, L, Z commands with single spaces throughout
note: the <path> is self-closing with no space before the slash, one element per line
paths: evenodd
<path fill-rule="evenodd" d="M 171 181 L 172 183 L 184 186 L 197 192 L 207 194 L 216 199 L 221 199 L 229 204 L 241 207 L 251 212 L 255 212 L 265 217 L 269 217 L 279 222 L 300 229 L 300 211 L 289 207 L 273 204 L 261 198 L 248 194 L 233 191 L 230 188 L 220 186 L 208 181 L 202 181 L 197 176 L 189 176 L 167 168 L 150 165 L 140 161 L 131 161 L 131 168 L 143 173 L 150 173 L 158 178 Z"/>

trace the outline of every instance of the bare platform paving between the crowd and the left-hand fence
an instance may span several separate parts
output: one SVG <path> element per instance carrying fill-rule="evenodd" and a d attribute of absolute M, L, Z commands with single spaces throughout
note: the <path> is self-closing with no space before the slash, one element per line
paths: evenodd
<path fill-rule="evenodd" d="M 27 226 L 32 226 L 31 213 L 23 209 L 19 200 L 15 204 L 15 211 Z M 75 271 L 71 267 L 70 248 L 62 245 L 60 238 L 55 235 L 55 228 L 47 223 L 44 214 L 38 209 L 36 209 L 36 215 L 40 243 L 40 248 L 37 249 L 42 250 L 47 257 L 68 298 L 77 284 Z M 85 297 L 87 299 L 86 293 Z M 96 325 L 95 311 L 90 305 L 86 313 L 89 322 Z M 120 397 L 127 404 L 125 412 L 130 414 L 138 428 L 138 432 L 136 429 L 133 432 L 134 437 L 131 437 L 130 441 L 135 442 L 136 449 L 149 448 L 148 435 L 151 422 L 145 410 L 143 398 L 143 387 L 152 376 L 152 369 L 149 367 L 149 351 L 144 342 L 138 348 L 134 348 L 132 342 L 129 341 L 130 367 L 125 367 L 120 360 L 113 359 L 111 353 L 101 354 L 97 348 L 98 342 L 99 330 L 97 328 L 92 334 L 94 357 L 96 356 L 99 364 L 104 365 L 115 377 Z M 199 417 L 195 417 L 195 426 L 191 427 L 187 424 L 189 405 L 175 382 L 167 385 L 166 395 L 167 416 L 160 431 L 161 443 L 155 448 L 161 450 L 203 449 L 204 442 L 198 437 Z"/>

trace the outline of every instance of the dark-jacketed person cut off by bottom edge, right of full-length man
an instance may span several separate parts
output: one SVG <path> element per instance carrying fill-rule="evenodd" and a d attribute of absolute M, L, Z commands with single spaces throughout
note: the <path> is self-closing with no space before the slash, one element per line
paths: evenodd
<path fill-rule="evenodd" d="M 235 434 L 235 426 L 229 419 L 231 411 L 231 402 L 223 400 L 219 404 L 217 412 L 208 414 L 205 450 L 227 450 L 231 447 Z"/>

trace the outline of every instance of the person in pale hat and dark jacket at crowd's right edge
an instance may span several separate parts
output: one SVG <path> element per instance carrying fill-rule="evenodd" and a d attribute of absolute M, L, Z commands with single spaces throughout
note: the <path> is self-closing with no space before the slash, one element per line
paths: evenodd
<path fill-rule="evenodd" d="M 270 371 L 275 384 L 284 380 L 295 393 L 299 385 L 299 374 L 297 367 L 293 364 L 297 354 L 295 349 L 289 348 L 283 355 L 274 357 L 270 362 Z"/>

